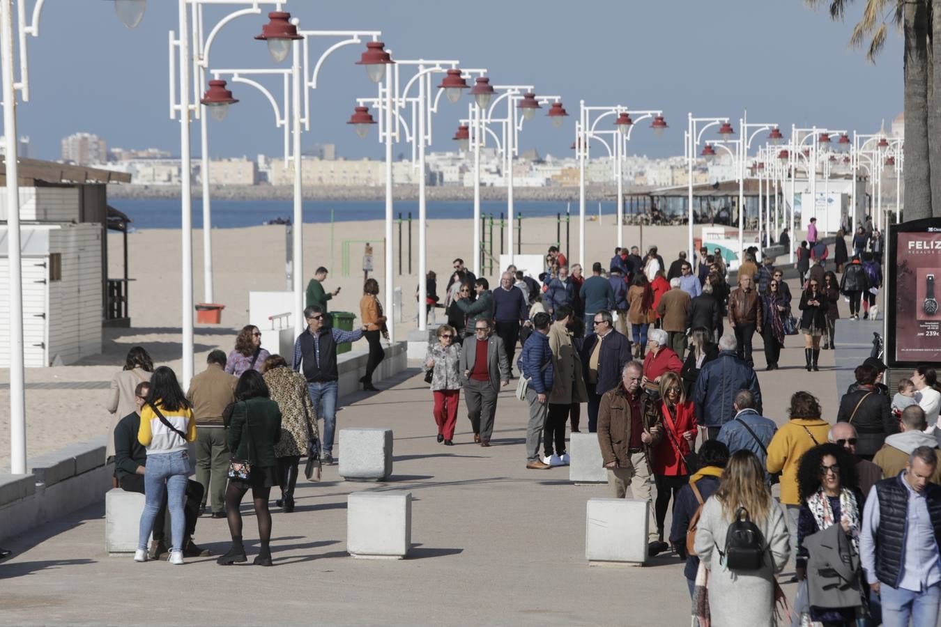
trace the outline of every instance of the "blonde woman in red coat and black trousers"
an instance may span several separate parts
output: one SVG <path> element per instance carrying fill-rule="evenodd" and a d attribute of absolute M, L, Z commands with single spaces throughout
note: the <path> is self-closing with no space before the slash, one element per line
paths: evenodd
<path fill-rule="evenodd" d="M 657 551 L 669 546 L 663 541 L 663 522 L 670 505 L 670 495 L 676 501 L 680 488 L 686 485 L 695 468 L 687 468 L 683 457 L 693 450 L 696 425 L 693 402 L 686 400 L 683 382 L 676 372 L 664 372 L 660 379 L 662 398 L 663 437 L 653 448 L 650 470 L 657 481 L 657 500 L 654 512 L 657 518 L 657 535 L 660 537 Z"/>

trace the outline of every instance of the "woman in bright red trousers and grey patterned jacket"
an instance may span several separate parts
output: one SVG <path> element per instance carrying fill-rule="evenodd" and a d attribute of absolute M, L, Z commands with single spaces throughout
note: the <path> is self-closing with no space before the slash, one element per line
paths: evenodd
<path fill-rule="evenodd" d="M 428 344 L 424 367 L 431 371 L 431 393 L 435 397 L 432 413 L 438 425 L 438 441 L 454 445 L 457 405 L 461 399 L 461 343 L 455 327 L 442 324 L 436 332 L 438 341 Z M 425 379 L 427 381 L 427 379 Z"/>

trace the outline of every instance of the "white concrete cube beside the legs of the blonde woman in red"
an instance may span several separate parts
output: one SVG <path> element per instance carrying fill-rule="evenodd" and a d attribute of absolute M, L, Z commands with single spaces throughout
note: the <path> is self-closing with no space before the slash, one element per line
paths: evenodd
<path fill-rule="evenodd" d="M 647 557 L 647 508 L 641 498 L 590 498 L 585 518 L 589 566 L 642 565 Z"/>

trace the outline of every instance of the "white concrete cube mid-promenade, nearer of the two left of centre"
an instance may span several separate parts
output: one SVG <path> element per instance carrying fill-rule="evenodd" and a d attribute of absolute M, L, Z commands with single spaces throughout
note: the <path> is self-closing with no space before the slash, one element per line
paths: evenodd
<path fill-rule="evenodd" d="M 410 492 L 349 495 L 346 501 L 347 553 L 365 559 L 402 559 L 407 556 L 410 545 Z"/>

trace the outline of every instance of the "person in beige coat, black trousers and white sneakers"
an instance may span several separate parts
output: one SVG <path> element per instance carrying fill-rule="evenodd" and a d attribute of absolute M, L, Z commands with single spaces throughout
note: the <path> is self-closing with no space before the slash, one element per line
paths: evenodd
<path fill-rule="evenodd" d="M 588 391 L 582 377 L 582 358 L 575 349 L 568 331 L 575 313 L 571 306 L 555 309 L 555 321 L 549 329 L 549 350 L 552 352 L 552 390 L 549 395 L 549 415 L 543 430 L 543 462 L 550 466 L 566 465 L 566 421 L 572 403 L 587 402 Z"/>

